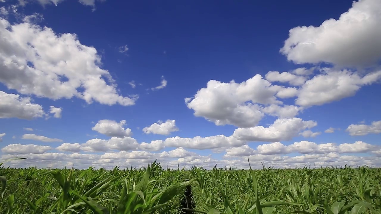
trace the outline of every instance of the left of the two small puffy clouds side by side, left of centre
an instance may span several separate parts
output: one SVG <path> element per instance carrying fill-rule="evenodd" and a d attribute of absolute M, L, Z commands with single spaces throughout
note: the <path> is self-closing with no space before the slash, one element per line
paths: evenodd
<path fill-rule="evenodd" d="M 93 131 L 97 131 L 100 134 L 104 134 L 110 137 L 128 137 L 132 135 L 131 129 L 123 128 L 126 124 L 125 120 L 121 120 L 119 123 L 114 120 L 99 120 L 93 128 Z"/>

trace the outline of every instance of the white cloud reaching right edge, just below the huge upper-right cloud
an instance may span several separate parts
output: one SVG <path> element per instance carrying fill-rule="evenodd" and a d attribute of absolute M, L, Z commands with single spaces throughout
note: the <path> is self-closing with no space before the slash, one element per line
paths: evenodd
<path fill-rule="evenodd" d="M 341 100 L 354 94 L 363 85 L 370 85 L 381 78 L 381 70 L 360 77 L 348 70 L 326 69 L 326 73 L 316 75 L 299 89 L 295 104 L 302 106 L 323 105 Z"/>

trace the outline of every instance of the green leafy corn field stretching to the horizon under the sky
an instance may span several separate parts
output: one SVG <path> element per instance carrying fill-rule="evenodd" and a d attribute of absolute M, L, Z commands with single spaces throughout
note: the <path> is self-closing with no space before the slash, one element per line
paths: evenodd
<path fill-rule="evenodd" d="M 250 164 L 250 162 L 249 162 Z M 6 214 L 381 214 L 381 169 L 4 168 Z"/>

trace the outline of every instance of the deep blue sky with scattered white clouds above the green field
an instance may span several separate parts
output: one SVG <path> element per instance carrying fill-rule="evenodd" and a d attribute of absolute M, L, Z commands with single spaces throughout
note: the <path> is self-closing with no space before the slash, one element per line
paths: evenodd
<path fill-rule="evenodd" d="M 0 0 L 0 162 L 381 166 L 381 0 Z"/>

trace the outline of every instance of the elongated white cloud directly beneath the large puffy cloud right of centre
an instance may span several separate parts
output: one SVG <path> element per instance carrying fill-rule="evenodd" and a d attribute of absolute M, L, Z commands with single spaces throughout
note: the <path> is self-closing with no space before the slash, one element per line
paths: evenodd
<path fill-rule="evenodd" d="M 263 126 L 237 128 L 232 136 L 242 141 L 289 141 L 304 129 L 316 125 L 315 121 L 303 121 L 301 118 L 277 119 L 267 128 Z"/>

